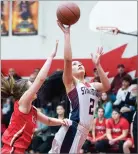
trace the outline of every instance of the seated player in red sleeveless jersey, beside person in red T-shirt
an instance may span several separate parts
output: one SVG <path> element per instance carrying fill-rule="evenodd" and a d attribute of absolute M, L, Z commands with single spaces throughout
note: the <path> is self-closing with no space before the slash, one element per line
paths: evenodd
<path fill-rule="evenodd" d="M 91 152 L 91 147 L 97 145 L 98 141 L 106 138 L 106 119 L 104 118 L 104 109 L 98 108 L 98 118 L 92 123 L 92 134 L 89 133 L 85 141 L 81 153 Z"/>

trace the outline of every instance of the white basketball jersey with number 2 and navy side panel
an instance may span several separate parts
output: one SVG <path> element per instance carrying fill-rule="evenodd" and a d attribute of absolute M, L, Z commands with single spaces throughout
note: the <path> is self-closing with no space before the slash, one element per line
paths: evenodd
<path fill-rule="evenodd" d="M 70 119 L 89 129 L 98 103 L 98 95 L 93 83 L 86 85 L 78 82 L 76 87 L 68 93 L 71 103 Z"/>

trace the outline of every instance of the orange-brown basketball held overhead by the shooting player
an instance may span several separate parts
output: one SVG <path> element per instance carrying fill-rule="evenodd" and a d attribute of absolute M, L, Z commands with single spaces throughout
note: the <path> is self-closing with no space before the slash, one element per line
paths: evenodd
<path fill-rule="evenodd" d="M 64 25 L 73 25 L 80 18 L 80 8 L 72 2 L 62 3 L 57 9 L 57 18 Z"/>

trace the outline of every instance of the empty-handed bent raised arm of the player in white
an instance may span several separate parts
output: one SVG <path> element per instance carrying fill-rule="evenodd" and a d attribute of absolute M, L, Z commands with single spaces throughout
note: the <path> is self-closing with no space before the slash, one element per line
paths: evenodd
<path fill-rule="evenodd" d="M 106 92 L 110 89 L 110 83 L 109 83 L 109 79 L 107 78 L 107 75 L 105 74 L 100 64 L 100 57 L 101 55 L 103 55 L 102 51 L 103 51 L 103 48 L 98 48 L 95 58 L 92 54 L 91 56 L 92 56 L 92 61 L 94 62 L 97 68 L 97 71 L 101 80 L 101 83 L 95 82 L 94 86 L 98 91 Z"/>

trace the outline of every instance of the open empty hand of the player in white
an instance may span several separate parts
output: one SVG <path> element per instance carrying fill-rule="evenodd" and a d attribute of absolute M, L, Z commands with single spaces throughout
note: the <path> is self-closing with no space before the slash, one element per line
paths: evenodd
<path fill-rule="evenodd" d="M 95 56 L 91 53 L 92 61 L 96 66 L 100 64 L 100 58 L 102 55 L 103 55 L 103 47 L 98 48 Z"/>

